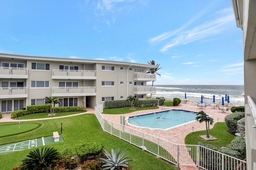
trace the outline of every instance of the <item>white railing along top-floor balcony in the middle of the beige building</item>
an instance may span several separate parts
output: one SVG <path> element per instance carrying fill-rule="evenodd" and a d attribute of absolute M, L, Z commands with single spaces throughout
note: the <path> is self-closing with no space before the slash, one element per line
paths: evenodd
<path fill-rule="evenodd" d="M 52 76 L 96 76 L 96 70 L 59 70 L 59 69 L 52 69 Z"/>

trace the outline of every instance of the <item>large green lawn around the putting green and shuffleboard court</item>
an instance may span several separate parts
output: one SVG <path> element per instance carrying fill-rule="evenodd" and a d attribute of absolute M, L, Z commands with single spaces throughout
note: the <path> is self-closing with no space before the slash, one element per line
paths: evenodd
<path fill-rule="evenodd" d="M 16 122 L 0 123 L 0 125 L 14 123 Z M 120 150 L 128 148 L 125 155 L 130 155 L 128 158 L 133 160 L 129 162 L 129 165 L 133 170 L 178 170 L 176 167 L 171 166 L 159 158 L 156 158 L 156 156 L 146 151 L 142 151 L 138 147 L 130 145 L 117 137 L 103 132 L 94 114 L 84 114 L 60 119 L 29 121 L 27 123 L 41 123 L 42 126 L 34 131 L 20 135 L 3 137 L 0 140 L 0 145 L 51 136 L 53 131 L 58 131 L 58 133 L 61 133 L 62 123 L 62 137 L 64 138 L 64 142 L 47 145 L 47 147 L 54 147 L 55 149 L 58 149 L 59 152 L 62 152 L 67 147 L 71 147 L 73 149 L 73 154 L 76 154 L 74 149 L 76 144 L 97 142 L 102 143 L 102 145 L 104 145 L 108 151 L 111 151 L 112 148 L 120 148 Z M 26 158 L 26 155 L 30 152 L 30 150 L 22 150 L 0 155 L 0 169 L 10 170 L 18 166 L 20 163 L 22 163 L 20 160 Z"/>

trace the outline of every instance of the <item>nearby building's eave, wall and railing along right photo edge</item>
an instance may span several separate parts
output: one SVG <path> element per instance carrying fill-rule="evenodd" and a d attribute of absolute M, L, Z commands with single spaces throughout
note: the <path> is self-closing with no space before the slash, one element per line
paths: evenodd
<path fill-rule="evenodd" d="M 256 170 L 256 0 L 232 0 L 244 33 L 244 99 L 247 170 Z"/>

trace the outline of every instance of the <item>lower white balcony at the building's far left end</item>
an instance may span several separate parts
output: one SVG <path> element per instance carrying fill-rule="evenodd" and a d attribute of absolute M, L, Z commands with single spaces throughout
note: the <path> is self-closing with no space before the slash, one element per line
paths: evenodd
<path fill-rule="evenodd" d="M 0 99 L 27 98 L 27 87 L 1 87 Z"/>

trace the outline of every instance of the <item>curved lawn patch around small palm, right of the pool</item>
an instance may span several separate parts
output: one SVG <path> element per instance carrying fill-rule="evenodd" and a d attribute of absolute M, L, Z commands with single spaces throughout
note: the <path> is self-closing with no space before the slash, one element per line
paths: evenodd
<path fill-rule="evenodd" d="M 228 146 L 228 144 L 230 144 L 231 141 L 236 137 L 235 135 L 228 133 L 228 128 L 224 122 L 215 123 L 214 127 L 210 129 L 210 135 L 216 137 L 218 139 L 217 141 L 205 141 L 204 139 L 200 138 L 199 135 L 206 135 L 206 130 L 196 131 L 194 134 L 188 134 L 185 138 L 185 143 L 187 145 L 197 145 L 198 142 L 203 142 L 214 145 L 220 149 L 220 147 Z"/>

